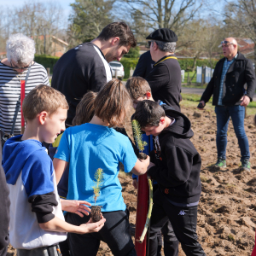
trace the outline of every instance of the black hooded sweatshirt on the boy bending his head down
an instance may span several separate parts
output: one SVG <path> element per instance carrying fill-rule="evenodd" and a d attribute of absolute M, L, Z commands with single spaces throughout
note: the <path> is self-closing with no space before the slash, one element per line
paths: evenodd
<path fill-rule="evenodd" d="M 163 108 L 166 116 L 176 121 L 161 131 L 160 148 L 154 143 L 154 156 L 151 154 L 150 160 L 155 166 L 148 170 L 148 175 L 171 201 L 197 202 L 201 195 L 201 156 L 190 141 L 194 135 L 191 123 L 183 113 Z"/>

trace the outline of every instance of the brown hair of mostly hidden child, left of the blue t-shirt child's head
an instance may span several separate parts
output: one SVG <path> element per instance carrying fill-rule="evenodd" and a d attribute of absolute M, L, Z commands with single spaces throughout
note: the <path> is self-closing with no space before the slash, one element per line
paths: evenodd
<path fill-rule="evenodd" d="M 76 108 L 76 115 L 73 119 L 72 125 L 83 125 L 89 123 L 94 116 L 93 102 L 97 96 L 94 91 L 88 91 L 84 94 L 81 102 Z"/>

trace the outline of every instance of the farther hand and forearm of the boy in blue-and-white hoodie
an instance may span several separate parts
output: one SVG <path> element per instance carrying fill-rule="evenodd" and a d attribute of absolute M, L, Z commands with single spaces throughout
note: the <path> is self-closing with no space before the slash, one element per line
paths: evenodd
<path fill-rule="evenodd" d="M 87 201 L 78 201 L 78 200 L 63 200 L 61 199 L 61 208 L 62 211 L 73 212 L 78 214 L 80 217 L 84 217 L 82 212 L 85 215 L 89 215 L 90 208 L 85 207 L 84 205 L 91 206 Z"/>

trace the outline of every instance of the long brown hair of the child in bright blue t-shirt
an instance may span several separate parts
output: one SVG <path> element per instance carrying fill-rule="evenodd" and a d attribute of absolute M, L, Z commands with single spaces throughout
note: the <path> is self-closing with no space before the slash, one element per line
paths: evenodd
<path fill-rule="evenodd" d="M 131 110 L 131 97 L 119 79 L 112 79 L 98 92 L 94 101 L 95 115 L 108 121 L 108 126 L 123 127 Z"/>

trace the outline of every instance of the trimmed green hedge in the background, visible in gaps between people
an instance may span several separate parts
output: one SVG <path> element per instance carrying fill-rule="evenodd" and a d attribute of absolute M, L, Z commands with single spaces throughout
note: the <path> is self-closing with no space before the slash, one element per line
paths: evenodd
<path fill-rule="evenodd" d="M 50 68 L 50 73 L 53 71 L 53 67 L 55 66 L 55 63 L 59 60 L 59 57 L 49 56 L 49 55 L 35 55 L 35 61 L 39 64 L 43 65 L 45 68 Z M 130 69 L 135 69 L 137 66 L 138 58 L 122 58 L 121 63 L 124 66 L 125 69 L 125 79 L 129 78 L 130 75 Z M 185 71 L 191 71 L 193 67 L 194 60 L 193 59 L 178 59 L 177 60 L 181 69 Z M 218 60 L 212 60 L 212 67 L 214 68 Z M 207 66 L 210 67 L 208 60 L 197 60 L 196 66 Z"/>

